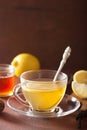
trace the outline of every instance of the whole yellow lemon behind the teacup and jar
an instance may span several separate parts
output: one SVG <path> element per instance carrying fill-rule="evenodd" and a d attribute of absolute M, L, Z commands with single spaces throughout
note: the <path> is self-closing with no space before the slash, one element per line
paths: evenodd
<path fill-rule="evenodd" d="M 29 53 L 20 53 L 15 56 L 11 62 L 15 68 L 15 75 L 20 76 L 21 73 L 28 70 L 40 69 L 40 61 L 38 58 Z"/>

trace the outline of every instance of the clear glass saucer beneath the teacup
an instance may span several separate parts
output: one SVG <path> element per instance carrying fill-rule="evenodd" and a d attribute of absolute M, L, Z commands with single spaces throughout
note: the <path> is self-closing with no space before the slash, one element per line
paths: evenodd
<path fill-rule="evenodd" d="M 23 94 L 21 93 L 20 96 L 23 97 Z M 22 103 L 20 103 L 14 96 L 11 96 L 7 100 L 7 105 L 12 110 L 22 115 L 26 115 L 29 117 L 49 118 L 49 117 L 62 117 L 75 112 L 80 107 L 80 102 L 75 97 L 66 94 L 61 103 L 59 104 L 59 106 L 55 109 L 54 112 L 51 113 L 32 111 L 29 106 L 25 106 Z"/>

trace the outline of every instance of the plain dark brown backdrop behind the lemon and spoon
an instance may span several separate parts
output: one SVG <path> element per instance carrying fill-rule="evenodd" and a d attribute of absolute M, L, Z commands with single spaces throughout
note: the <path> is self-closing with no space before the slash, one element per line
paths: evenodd
<path fill-rule="evenodd" d="M 28 52 L 41 68 L 57 69 L 70 45 L 64 69 L 87 69 L 86 9 L 86 0 L 0 1 L 0 63 Z"/>

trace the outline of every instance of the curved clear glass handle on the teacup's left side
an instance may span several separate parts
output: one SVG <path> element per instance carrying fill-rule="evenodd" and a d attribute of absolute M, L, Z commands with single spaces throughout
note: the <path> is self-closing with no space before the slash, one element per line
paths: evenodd
<path fill-rule="evenodd" d="M 21 83 L 20 84 L 17 84 L 15 87 L 14 87 L 14 91 L 13 91 L 13 95 L 15 96 L 15 98 L 23 103 L 24 105 L 27 105 L 29 106 L 29 104 L 27 103 L 26 100 L 23 100 L 22 97 L 20 96 L 22 94 L 21 92 Z"/>

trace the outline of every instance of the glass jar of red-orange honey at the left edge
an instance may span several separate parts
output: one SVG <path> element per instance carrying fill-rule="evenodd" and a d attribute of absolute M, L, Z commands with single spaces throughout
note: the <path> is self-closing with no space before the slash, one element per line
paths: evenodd
<path fill-rule="evenodd" d="M 13 94 L 15 69 L 10 64 L 0 64 L 0 97 Z"/>

